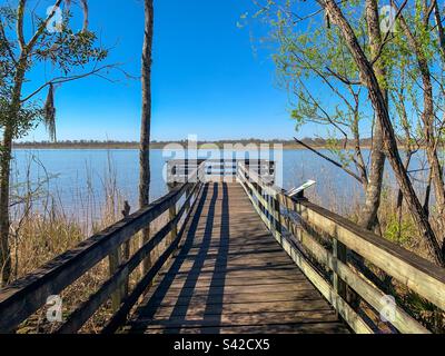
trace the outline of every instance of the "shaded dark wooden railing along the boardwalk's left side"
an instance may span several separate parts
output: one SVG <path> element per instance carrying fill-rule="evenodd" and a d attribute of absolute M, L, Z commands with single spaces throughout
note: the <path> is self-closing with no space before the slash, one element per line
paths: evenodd
<path fill-rule="evenodd" d="M 189 171 L 188 180 L 172 186 L 170 192 L 165 197 L 91 236 L 75 249 L 62 254 L 39 270 L 0 289 L 0 333 L 14 332 L 23 320 L 47 303 L 49 296 L 59 295 L 105 258 L 109 258 L 109 278 L 68 316 L 57 333 L 78 332 L 109 299 L 112 300 L 113 314 L 102 333 L 117 330 L 126 320 L 138 298 L 146 291 L 160 268 L 178 247 L 192 209 L 191 204 L 196 201 L 201 189 L 202 175 L 204 165 L 198 165 Z M 180 204 L 180 201 L 182 202 Z M 135 234 L 148 227 L 167 210 L 170 212 L 168 222 L 132 256 L 129 256 L 128 244 Z M 128 214 L 128 207 L 126 212 Z M 178 231 L 181 218 L 184 221 Z M 168 236 L 170 236 L 170 240 L 166 241 Z M 131 290 L 128 290 L 130 274 L 162 241 L 166 243 L 164 253 L 151 261 L 149 271 Z"/>

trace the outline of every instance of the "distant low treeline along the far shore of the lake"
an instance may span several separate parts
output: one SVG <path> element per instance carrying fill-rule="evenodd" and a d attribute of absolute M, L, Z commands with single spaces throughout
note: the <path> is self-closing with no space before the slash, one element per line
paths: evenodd
<path fill-rule="evenodd" d="M 347 147 L 350 147 L 352 142 L 345 142 L 344 140 L 326 140 L 323 138 L 304 138 L 301 141 L 310 147 L 315 148 L 324 148 L 330 147 L 333 145 L 338 147 L 344 147 L 346 144 Z M 366 148 L 370 146 L 370 138 L 365 138 L 360 140 L 360 146 Z M 179 144 L 184 147 L 187 147 L 187 140 L 176 140 L 176 141 L 151 141 L 151 148 L 164 148 L 169 144 Z M 218 147 L 224 147 L 225 144 L 228 145 L 273 145 L 273 144 L 281 144 L 285 148 L 303 148 L 301 145 L 297 144 L 294 139 L 284 140 L 284 139 L 271 139 L 271 140 L 263 140 L 263 139 L 243 139 L 243 140 L 218 140 L 218 141 L 198 141 L 198 146 L 207 146 L 207 145 L 217 145 Z M 14 142 L 13 148 L 21 149 L 30 149 L 30 148 L 40 148 L 40 149 L 60 149 L 60 148 L 72 148 L 72 149 L 136 149 L 139 148 L 139 142 L 137 141 L 115 141 L 115 140 L 63 140 L 63 141 L 20 141 Z"/>

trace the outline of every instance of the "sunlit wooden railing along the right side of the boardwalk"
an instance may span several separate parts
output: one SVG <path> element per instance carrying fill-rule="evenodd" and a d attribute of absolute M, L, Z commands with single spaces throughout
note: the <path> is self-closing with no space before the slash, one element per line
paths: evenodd
<path fill-rule="evenodd" d="M 358 255 L 442 310 L 445 310 L 444 268 L 301 196 L 289 197 L 243 162 L 238 165 L 237 178 L 277 241 L 354 332 L 378 333 L 384 327 L 383 332 L 429 333 L 365 277 L 352 257 Z M 357 295 L 363 301 L 358 306 L 354 303 L 356 298 L 350 298 Z M 386 323 L 382 323 L 380 316 Z"/>

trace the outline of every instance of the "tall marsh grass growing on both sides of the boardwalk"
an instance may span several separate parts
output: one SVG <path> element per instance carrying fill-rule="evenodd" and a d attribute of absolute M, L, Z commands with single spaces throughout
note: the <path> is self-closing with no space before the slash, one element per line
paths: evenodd
<path fill-rule="evenodd" d="M 11 250 L 13 277 L 20 278 L 34 271 L 44 263 L 58 255 L 76 247 L 79 243 L 95 233 L 102 230 L 109 225 L 120 220 L 123 201 L 127 192 L 119 189 L 117 172 L 113 169 L 112 158 L 109 156 L 105 177 L 101 180 L 101 190 L 97 191 L 92 185 L 92 169 L 86 166 L 87 188 L 86 190 L 75 189 L 72 201 L 76 205 L 70 209 L 62 205 L 61 195 L 58 190 L 49 189 L 49 182 L 57 177 L 44 171 L 43 177 L 31 181 L 30 167 L 32 164 L 41 165 L 36 157 L 30 157 L 28 171 L 21 178 L 16 177 L 12 201 L 12 228 Z M 323 168 L 322 168 L 323 170 Z M 297 181 L 303 180 L 304 171 L 297 170 L 293 175 Z M 320 172 L 323 174 L 323 171 Z M 295 182 L 295 184 L 296 184 Z M 307 192 L 308 198 L 342 216 L 357 221 L 362 194 L 358 189 L 352 188 L 348 195 L 338 196 L 335 194 L 335 185 L 324 187 L 323 191 L 329 191 L 320 196 L 313 189 Z M 52 192 L 50 192 L 50 190 Z M 413 253 L 431 259 L 415 227 L 409 211 L 405 205 L 398 210 L 396 206 L 396 190 L 385 186 L 382 195 L 379 221 L 383 236 L 388 240 L 412 250 Z M 135 210 L 135 209 L 132 209 Z M 434 214 L 434 209 L 433 209 Z M 432 217 L 434 221 L 434 216 Z M 167 212 L 159 217 L 151 225 L 151 234 L 156 234 L 167 221 Z M 130 254 L 138 249 L 138 236 L 130 243 Z M 159 246 L 154 253 L 152 259 L 166 248 Z M 370 266 L 373 268 L 373 266 Z M 376 269 L 378 274 L 378 270 Z M 88 299 L 100 285 L 109 277 L 109 263 L 105 258 L 87 274 L 80 277 L 71 286 L 67 287 L 61 297 L 63 300 L 63 318 L 72 313 L 80 303 Z M 140 279 L 140 271 L 136 269 L 129 280 L 130 290 Z M 396 294 L 397 303 L 416 319 L 436 333 L 445 333 L 445 314 L 434 305 L 407 290 L 396 281 L 390 280 L 389 288 Z M 28 320 L 26 320 L 19 333 L 49 333 L 55 332 L 59 324 L 46 322 L 47 307 L 42 307 Z M 101 326 L 111 316 L 110 301 L 106 303 L 82 327 L 81 333 L 99 333 Z"/>

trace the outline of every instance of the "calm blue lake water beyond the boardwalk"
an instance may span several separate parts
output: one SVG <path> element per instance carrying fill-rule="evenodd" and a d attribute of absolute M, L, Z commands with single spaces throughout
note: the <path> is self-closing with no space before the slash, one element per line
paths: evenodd
<path fill-rule="evenodd" d="M 211 155 L 215 152 L 199 154 L 200 157 Z M 151 150 L 151 199 L 159 198 L 167 191 L 162 169 L 170 156 L 171 152 Z M 250 157 L 257 155 L 250 152 Z M 279 155 L 277 158 L 279 159 Z M 419 160 L 414 166 L 419 166 Z M 120 194 L 132 207 L 137 207 L 137 150 L 16 150 L 12 171 L 16 187 L 21 189 L 24 181 L 31 180 L 36 188 L 40 181 L 41 195 L 44 196 L 48 191 L 72 214 L 83 214 L 87 205 L 93 204 L 98 207 L 102 205 L 107 179 L 115 179 L 115 186 Z M 342 169 L 307 150 L 284 150 L 280 185 L 289 189 L 307 179 L 317 181 L 308 195 L 318 204 L 338 212 L 347 212 L 362 197 L 358 182 Z M 392 184 L 389 169 L 385 180 Z"/>

